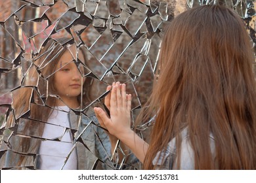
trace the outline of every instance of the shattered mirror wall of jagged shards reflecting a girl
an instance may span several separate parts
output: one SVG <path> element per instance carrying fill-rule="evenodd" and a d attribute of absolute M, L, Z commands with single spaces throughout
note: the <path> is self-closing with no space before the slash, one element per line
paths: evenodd
<path fill-rule="evenodd" d="M 125 83 L 133 96 L 131 127 L 148 142 L 154 118 L 136 127 L 135 119 L 152 92 L 173 12 L 226 5 L 256 42 L 255 1 L 172 3 L 0 0 L 0 169 L 141 169 L 119 141 L 111 152 L 93 107 L 108 112 L 106 87 Z M 69 71 L 77 81 L 72 90 L 63 78 Z"/>

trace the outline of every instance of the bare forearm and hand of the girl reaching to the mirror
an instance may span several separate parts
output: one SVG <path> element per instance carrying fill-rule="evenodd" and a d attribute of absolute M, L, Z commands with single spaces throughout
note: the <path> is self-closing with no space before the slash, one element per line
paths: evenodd
<path fill-rule="evenodd" d="M 112 86 L 110 118 L 98 107 L 95 107 L 95 114 L 100 125 L 106 127 L 111 135 L 120 139 L 143 163 L 148 144 L 131 129 L 131 95 L 126 94 L 125 84 L 120 85 L 117 82 Z M 114 137 L 110 137 L 111 143 L 113 143 L 112 138 Z"/>

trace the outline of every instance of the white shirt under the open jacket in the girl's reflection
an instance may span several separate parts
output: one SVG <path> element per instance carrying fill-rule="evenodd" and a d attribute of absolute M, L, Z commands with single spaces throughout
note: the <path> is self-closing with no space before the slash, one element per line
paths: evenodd
<path fill-rule="evenodd" d="M 43 131 L 43 138 L 55 141 L 46 140 L 41 142 L 39 169 L 57 170 L 62 169 L 64 165 L 63 169 L 74 170 L 77 169 L 77 154 L 75 149 L 72 151 L 74 143 L 67 113 L 70 109 L 67 106 L 56 107 L 56 109 L 58 110 L 53 110 Z M 59 141 L 56 141 L 56 139 Z M 70 157 L 65 164 L 69 155 Z"/>

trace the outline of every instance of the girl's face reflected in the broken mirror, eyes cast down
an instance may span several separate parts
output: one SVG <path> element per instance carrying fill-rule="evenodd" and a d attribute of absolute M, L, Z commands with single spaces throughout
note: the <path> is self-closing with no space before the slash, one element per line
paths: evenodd
<path fill-rule="evenodd" d="M 60 96 L 62 101 L 68 103 L 70 100 L 77 101 L 77 96 L 81 93 L 85 78 L 77 69 L 74 61 L 66 61 L 68 52 L 65 52 L 56 66 L 54 73 L 54 88 L 56 94 Z"/>

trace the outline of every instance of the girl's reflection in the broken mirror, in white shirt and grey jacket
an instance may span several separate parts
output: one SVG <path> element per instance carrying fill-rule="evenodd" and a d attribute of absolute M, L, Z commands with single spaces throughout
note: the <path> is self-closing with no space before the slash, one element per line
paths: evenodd
<path fill-rule="evenodd" d="M 37 69 L 28 72 L 26 87 L 14 93 L 12 108 L 18 125 L 11 128 L 11 138 L 4 138 L 1 144 L 5 150 L 1 168 L 113 169 L 110 141 L 115 143 L 116 137 L 109 139 L 97 126 L 94 114 L 83 110 L 89 99 L 87 83 L 91 82 L 82 76 L 83 67 L 78 69 L 79 62 L 74 61 L 68 46 L 53 41 L 40 55 L 32 66 Z M 32 80 L 39 80 L 39 73 L 48 82 L 46 92 L 42 82 L 35 82 L 34 88 L 30 86 Z M 22 112 L 29 105 L 30 113 Z"/>

